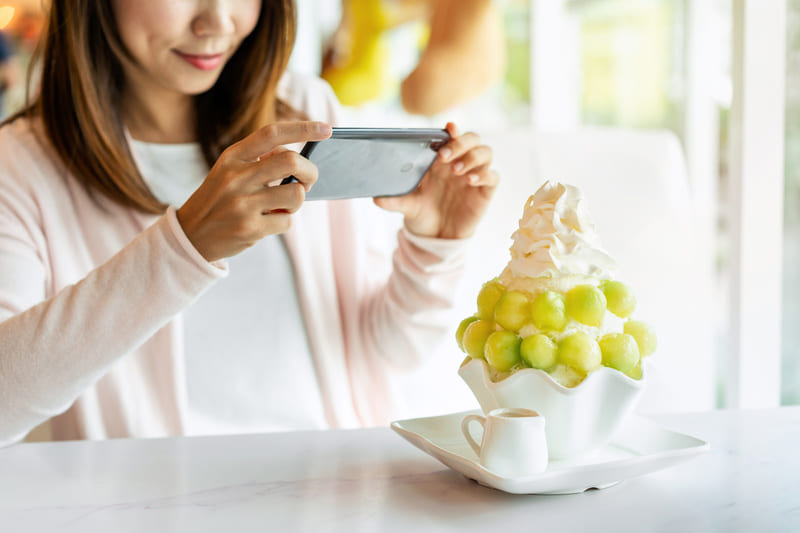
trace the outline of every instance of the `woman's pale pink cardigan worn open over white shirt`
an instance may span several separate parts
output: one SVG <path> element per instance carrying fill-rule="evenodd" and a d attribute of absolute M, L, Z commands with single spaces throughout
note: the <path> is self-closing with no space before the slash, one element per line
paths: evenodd
<path fill-rule="evenodd" d="M 327 85 L 282 88 L 333 120 Z M 371 235 L 376 211 L 368 200 L 309 202 L 284 236 L 331 427 L 387 423 L 391 372 L 434 353 L 453 327 L 463 242 L 400 230 L 390 258 Z M 90 194 L 39 123 L 1 128 L 0 445 L 48 419 L 55 439 L 182 434 L 181 311 L 226 275 L 174 209 L 146 215 Z"/>

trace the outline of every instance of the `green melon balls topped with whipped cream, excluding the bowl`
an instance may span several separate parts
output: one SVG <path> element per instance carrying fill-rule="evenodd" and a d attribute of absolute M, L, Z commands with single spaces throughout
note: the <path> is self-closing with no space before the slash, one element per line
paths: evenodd
<path fill-rule="evenodd" d="M 535 368 L 575 387 L 604 366 L 640 379 L 655 333 L 632 318 L 636 298 L 614 279 L 580 190 L 546 182 L 511 238 L 508 265 L 458 327 L 459 347 L 488 363 L 492 381 Z"/>

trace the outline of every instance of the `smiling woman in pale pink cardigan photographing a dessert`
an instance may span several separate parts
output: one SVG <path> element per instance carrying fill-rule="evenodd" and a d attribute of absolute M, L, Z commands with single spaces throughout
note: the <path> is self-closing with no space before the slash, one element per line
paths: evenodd
<path fill-rule="evenodd" d="M 448 125 L 375 200 L 404 218 L 379 256 L 374 206 L 303 202 L 285 146 L 336 104 L 284 72 L 293 40 L 290 0 L 52 2 L 39 96 L 0 128 L 0 442 L 385 423 L 389 373 L 447 329 L 491 150 Z"/>

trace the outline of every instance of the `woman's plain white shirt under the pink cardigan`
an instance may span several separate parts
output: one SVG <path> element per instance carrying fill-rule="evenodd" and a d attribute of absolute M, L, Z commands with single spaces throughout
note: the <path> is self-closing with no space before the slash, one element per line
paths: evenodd
<path fill-rule="evenodd" d="M 198 144 L 131 141 L 162 202 L 180 207 L 208 166 Z M 282 239 L 269 236 L 228 259 L 230 275 L 183 314 L 187 434 L 327 427 Z"/>

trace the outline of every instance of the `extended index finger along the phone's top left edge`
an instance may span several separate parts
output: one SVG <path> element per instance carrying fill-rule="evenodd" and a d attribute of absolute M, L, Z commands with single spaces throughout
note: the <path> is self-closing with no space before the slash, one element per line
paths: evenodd
<path fill-rule="evenodd" d="M 254 131 L 228 148 L 225 154 L 239 161 L 251 163 L 279 146 L 322 141 L 330 136 L 331 127 L 324 122 L 277 122 Z"/>

